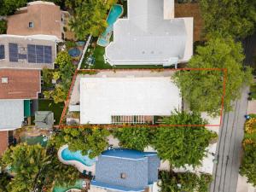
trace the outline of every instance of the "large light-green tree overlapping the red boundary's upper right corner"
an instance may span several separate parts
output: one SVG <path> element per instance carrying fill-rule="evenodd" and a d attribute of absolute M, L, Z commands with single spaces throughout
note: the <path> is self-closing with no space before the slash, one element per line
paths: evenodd
<path fill-rule="evenodd" d="M 240 43 L 235 43 L 232 38 L 211 38 L 205 46 L 196 49 L 188 67 L 227 69 L 224 109 L 230 111 L 230 102 L 240 97 L 241 86 L 252 80 L 251 68 L 244 70 L 243 60 Z M 222 104 L 223 76 L 222 71 L 192 70 L 177 72 L 173 79 L 191 110 L 218 115 Z"/>

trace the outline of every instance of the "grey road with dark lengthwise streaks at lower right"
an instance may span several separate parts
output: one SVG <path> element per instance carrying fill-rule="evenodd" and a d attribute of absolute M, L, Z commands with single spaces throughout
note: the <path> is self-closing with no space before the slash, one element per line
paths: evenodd
<path fill-rule="evenodd" d="M 213 169 L 211 192 L 236 192 L 244 114 L 247 113 L 247 92 L 248 88 L 242 90 L 241 99 L 234 102 L 234 111 L 224 114 L 216 152 L 218 164 Z"/>

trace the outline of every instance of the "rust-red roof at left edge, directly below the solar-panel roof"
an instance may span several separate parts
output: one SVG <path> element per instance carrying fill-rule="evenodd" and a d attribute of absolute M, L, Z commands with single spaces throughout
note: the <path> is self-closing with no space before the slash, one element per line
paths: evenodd
<path fill-rule="evenodd" d="M 0 69 L 0 99 L 37 99 L 40 84 L 39 70 Z"/>

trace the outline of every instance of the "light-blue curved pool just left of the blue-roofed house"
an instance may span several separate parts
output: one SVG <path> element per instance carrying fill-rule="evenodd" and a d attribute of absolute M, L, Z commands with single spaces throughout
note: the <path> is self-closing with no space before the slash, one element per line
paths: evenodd
<path fill-rule="evenodd" d="M 84 166 L 92 166 L 96 161 L 95 158 L 90 159 L 88 155 L 82 155 L 80 151 L 72 152 L 68 147 L 61 151 L 61 158 L 63 160 L 77 160 L 84 164 Z"/>

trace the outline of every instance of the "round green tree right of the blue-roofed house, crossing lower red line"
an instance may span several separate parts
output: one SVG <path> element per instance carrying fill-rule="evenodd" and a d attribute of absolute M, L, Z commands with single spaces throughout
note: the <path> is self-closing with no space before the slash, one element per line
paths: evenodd
<path fill-rule="evenodd" d="M 172 166 L 200 166 L 206 155 L 206 148 L 216 133 L 208 131 L 207 122 L 198 113 L 175 112 L 164 119 L 166 125 L 157 129 L 154 148 L 162 160 L 169 160 Z M 201 126 L 193 126 L 201 125 Z"/>

